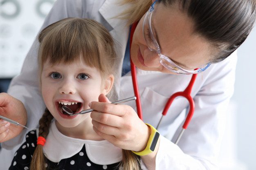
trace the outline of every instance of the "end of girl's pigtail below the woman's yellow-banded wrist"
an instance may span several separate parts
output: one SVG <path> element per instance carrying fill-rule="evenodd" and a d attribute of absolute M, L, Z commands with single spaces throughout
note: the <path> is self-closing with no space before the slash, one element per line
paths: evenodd
<path fill-rule="evenodd" d="M 140 170 L 139 157 L 130 150 L 122 150 L 123 160 L 120 170 Z"/>

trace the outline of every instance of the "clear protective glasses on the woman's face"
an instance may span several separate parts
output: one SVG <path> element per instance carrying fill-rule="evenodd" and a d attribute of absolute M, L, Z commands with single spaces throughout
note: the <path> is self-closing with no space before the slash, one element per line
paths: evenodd
<path fill-rule="evenodd" d="M 155 2 L 157 2 L 157 0 L 155 0 Z M 186 70 L 186 69 L 178 66 L 177 64 L 175 64 L 169 57 L 167 57 L 161 53 L 160 47 L 155 39 L 155 36 L 152 31 L 152 27 L 151 27 L 151 17 L 152 17 L 152 13 L 154 11 L 155 2 L 153 2 L 153 4 L 148 9 L 148 11 L 145 15 L 145 18 L 143 20 L 143 26 L 142 26 L 143 27 L 143 36 L 144 36 L 144 39 L 148 46 L 148 49 L 150 49 L 150 51 L 155 51 L 160 57 L 160 63 L 165 68 L 167 68 L 170 71 L 173 71 L 174 73 L 197 74 L 197 73 L 201 73 L 206 68 L 208 68 L 211 65 L 211 63 L 205 64 L 205 65 L 201 66 L 200 68 L 194 69 L 192 71 Z"/>

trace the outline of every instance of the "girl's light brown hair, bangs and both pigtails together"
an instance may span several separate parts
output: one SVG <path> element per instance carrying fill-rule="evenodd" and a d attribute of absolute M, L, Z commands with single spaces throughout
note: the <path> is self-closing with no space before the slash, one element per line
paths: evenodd
<path fill-rule="evenodd" d="M 43 64 L 49 62 L 72 64 L 82 60 L 89 66 L 99 69 L 101 75 L 114 74 L 115 43 L 110 33 L 100 23 L 81 18 L 66 18 L 55 22 L 39 35 L 38 51 L 39 75 L 41 77 Z M 39 135 L 45 139 L 49 133 L 49 126 L 53 117 L 49 110 L 45 110 L 39 121 Z M 47 142 L 47 140 L 46 140 Z M 123 160 L 120 166 L 123 170 L 139 170 L 139 159 L 129 150 L 122 150 Z M 45 170 L 45 156 L 43 146 L 37 145 L 33 154 L 31 170 Z"/>

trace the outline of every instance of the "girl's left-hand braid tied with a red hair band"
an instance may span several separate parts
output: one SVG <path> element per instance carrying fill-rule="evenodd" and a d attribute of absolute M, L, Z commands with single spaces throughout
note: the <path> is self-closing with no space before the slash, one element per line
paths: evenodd
<path fill-rule="evenodd" d="M 52 114 L 46 108 L 45 113 L 39 120 L 38 143 L 40 143 L 39 142 L 40 138 L 46 139 L 46 137 L 49 133 L 49 126 L 51 124 L 52 119 L 53 119 Z M 45 140 L 44 140 L 44 142 L 45 142 Z M 45 156 L 43 154 L 43 145 L 42 144 L 37 144 L 37 146 L 36 146 L 36 150 L 33 154 L 32 160 L 31 160 L 30 170 L 46 170 Z"/>

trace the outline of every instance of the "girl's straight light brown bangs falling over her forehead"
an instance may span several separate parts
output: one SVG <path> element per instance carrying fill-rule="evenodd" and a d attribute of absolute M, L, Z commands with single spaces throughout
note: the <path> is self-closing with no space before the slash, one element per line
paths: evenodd
<path fill-rule="evenodd" d="M 50 30 L 41 42 L 39 60 L 41 64 L 72 64 L 81 60 L 89 66 L 101 68 L 97 37 L 88 26 L 76 20 L 68 24 L 59 24 Z"/>

